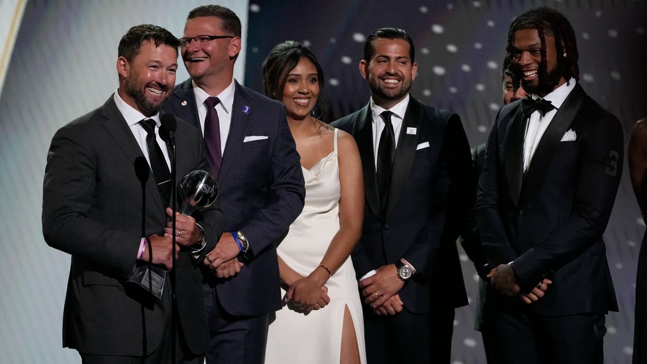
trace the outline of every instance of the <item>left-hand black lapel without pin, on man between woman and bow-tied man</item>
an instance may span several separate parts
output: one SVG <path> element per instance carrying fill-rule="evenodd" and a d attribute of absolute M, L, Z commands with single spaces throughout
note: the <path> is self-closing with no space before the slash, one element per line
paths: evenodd
<path fill-rule="evenodd" d="M 380 198 L 377 192 L 377 176 L 375 174 L 372 122 L 371 108 L 368 105 L 364 106 L 355 122 L 354 133 L 357 148 L 360 151 L 360 158 L 362 159 L 366 203 L 375 216 L 381 216 Z"/>

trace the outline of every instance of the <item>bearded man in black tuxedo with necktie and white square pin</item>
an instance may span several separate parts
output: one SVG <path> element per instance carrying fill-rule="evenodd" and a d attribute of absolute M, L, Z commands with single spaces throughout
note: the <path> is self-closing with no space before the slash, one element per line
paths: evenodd
<path fill-rule="evenodd" d="M 414 55 L 404 30 L 375 30 L 359 65 L 371 100 L 333 123 L 355 137 L 364 170 L 352 257 L 369 363 L 449 362 L 454 308 L 467 304 L 455 241 L 474 201 L 470 148 L 458 115 L 409 95 Z"/>

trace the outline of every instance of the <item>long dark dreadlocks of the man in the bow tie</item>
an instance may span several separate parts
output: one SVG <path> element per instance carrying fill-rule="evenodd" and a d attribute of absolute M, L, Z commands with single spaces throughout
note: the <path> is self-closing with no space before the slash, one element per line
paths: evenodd
<path fill-rule="evenodd" d="M 521 14 L 510 24 L 508 45 L 506 48 L 507 56 L 505 57 L 503 67 L 509 68 L 512 71 L 510 72 L 510 76 L 512 78 L 512 87 L 514 87 L 515 91 L 520 87 L 521 76 L 517 69 L 509 67 L 512 64 L 513 56 L 512 41 L 514 40 L 514 32 L 523 29 L 536 29 L 542 41 L 542 48 L 540 50 L 542 61 L 538 70 L 540 80 L 546 80 L 548 76 L 545 36 L 553 36 L 555 38 L 555 56 L 557 58 L 557 69 L 560 75 L 567 82 L 571 77 L 575 78 L 575 80 L 580 79 L 580 68 L 577 65 L 580 54 L 577 52 L 575 31 L 571 27 L 571 23 L 557 10 L 542 6 Z M 566 56 L 564 56 L 564 52 L 566 52 Z"/>

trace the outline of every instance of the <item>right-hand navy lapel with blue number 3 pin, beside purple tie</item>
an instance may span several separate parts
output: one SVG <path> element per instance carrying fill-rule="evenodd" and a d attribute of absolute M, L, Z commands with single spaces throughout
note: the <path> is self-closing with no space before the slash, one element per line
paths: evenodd
<path fill-rule="evenodd" d="M 243 138 L 245 137 L 245 130 L 249 122 L 250 115 L 254 112 L 254 108 L 250 108 L 249 113 L 243 113 L 243 106 L 249 106 L 252 96 L 245 92 L 238 82 L 236 82 L 236 90 L 234 91 L 234 103 L 232 104 L 231 124 L 229 126 L 229 135 L 225 144 L 225 152 L 223 152 L 223 164 L 220 167 L 218 175 L 218 184 L 223 183 L 223 178 L 227 175 L 227 171 L 232 166 L 232 161 L 236 158 L 236 154 L 243 146 Z"/>

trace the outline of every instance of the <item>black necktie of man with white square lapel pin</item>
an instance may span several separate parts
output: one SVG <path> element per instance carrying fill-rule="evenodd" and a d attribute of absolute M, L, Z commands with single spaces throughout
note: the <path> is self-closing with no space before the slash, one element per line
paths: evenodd
<path fill-rule="evenodd" d="M 391 172 L 393 172 L 393 157 L 395 157 L 395 133 L 391 124 L 391 111 L 380 114 L 384 120 L 384 130 L 380 136 L 380 145 L 377 148 L 377 191 L 380 194 L 380 209 L 382 216 L 386 212 L 386 201 L 389 198 L 391 185 Z"/>

